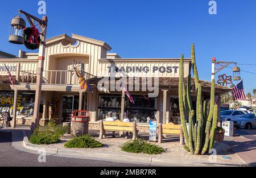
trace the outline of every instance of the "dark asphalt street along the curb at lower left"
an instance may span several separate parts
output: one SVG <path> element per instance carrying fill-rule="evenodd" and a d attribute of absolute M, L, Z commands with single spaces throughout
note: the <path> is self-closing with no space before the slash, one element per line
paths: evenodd
<path fill-rule="evenodd" d="M 15 150 L 11 146 L 11 133 L 0 131 L 0 166 L 18 167 L 138 167 L 138 164 L 123 164 L 96 160 L 46 156 L 46 163 L 38 162 L 38 155 Z"/>

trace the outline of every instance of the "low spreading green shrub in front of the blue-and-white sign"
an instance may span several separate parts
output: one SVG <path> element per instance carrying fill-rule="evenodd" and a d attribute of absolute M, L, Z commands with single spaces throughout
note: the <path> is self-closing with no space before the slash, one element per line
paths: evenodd
<path fill-rule="evenodd" d="M 144 140 L 134 140 L 129 141 L 121 146 L 122 151 L 133 152 L 133 153 L 143 153 L 149 155 L 162 154 L 164 149 L 162 147 L 156 146 L 151 143 L 147 143 Z"/>

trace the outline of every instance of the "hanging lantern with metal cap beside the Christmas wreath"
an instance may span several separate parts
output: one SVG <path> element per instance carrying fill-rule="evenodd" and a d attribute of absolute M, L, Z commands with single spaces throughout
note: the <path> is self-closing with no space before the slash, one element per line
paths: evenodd
<path fill-rule="evenodd" d="M 26 22 L 19 15 L 15 16 L 11 20 L 11 35 L 9 37 L 9 42 L 14 44 L 23 44 L 24 39 L 22 35 L 23 28 L 26 27 Z"/>

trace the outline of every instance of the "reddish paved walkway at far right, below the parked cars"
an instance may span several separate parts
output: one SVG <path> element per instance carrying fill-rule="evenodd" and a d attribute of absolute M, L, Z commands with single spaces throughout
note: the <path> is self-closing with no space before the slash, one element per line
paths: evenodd
<path fill-rule="evenodd" d="M 256 166 L 256 130 L 238 130 L 237 134 L 241 136 L 224 143 L 231 146 L 247 165 Z"/>

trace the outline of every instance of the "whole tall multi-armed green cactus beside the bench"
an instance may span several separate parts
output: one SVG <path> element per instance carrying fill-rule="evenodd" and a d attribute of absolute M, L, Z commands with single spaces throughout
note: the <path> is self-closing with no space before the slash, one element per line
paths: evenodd
<path fill-rule="evenodd" d="M 184 56 L 180 59 L 180 80 L 179 80 L 179 108 L 181 125 L 185 137 L 185 150 L 191 154 L 207 154 L 208 150 L 214 145 L 214 138 L 217 127 L 218 107 L 214 103 L 215 81 L 212 80 L 210 90 L 210 100 L 202 101 L 202 89 L 197 73 L 195 59 L 195 45 L 192 44 L 191 63 L 197 94 L 196 112 L 193 110 L 191 97 L 191 74 L 187 79 L 187 88 L 184 85 Z M 189 128 L 187 130 L 187 121 Z"/>

